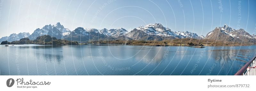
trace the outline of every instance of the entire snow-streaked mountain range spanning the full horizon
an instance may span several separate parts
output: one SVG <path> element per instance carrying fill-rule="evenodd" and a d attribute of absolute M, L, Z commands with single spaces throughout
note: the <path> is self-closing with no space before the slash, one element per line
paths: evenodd
<path fill-rule="evenodd" d="M 139 26 L 128 32 L 124 28 L 118 29 L 94 29 L 78 27 L 74 31 L 65 28 L 59 22 L 55 25 L 45 25 L 43 28 L 37 28 L 31 35 L 29 33 L 11 34 L 10 36 L 2 37 L 1 41 L 16 41 L 22 38 L 29 38 L 34 40 L 39 36 L 50 35 L 56 39 L 66 39 L 72 41 L 95 41 L 95 40 L 169 40 L 169 39 L 213 39 L 220 41 L 244 41 L 255 42 L 256 35 L 250 35 L 244 29 L 232 29 L 228 25 L 223 27 L 216 27 L 209 32 L 205 37 L 198 36 L 193 32 L 171 31 L 171 29 L 164 27 L 162 24 L 148 24 Z"/>

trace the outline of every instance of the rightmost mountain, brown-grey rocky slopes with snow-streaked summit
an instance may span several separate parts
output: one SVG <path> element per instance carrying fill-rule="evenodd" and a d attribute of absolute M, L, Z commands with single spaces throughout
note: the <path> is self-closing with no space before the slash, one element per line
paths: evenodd
<path fill-rule="evenodd" d="M 244 29 L 233 29 L 228 25 L 223 27 L 216 27 L 213 31 L 209 32 L 204 39 L 214 39 L 220 41 L 236 41 L 236 42 L 254 42 L 255 39 Z"/>

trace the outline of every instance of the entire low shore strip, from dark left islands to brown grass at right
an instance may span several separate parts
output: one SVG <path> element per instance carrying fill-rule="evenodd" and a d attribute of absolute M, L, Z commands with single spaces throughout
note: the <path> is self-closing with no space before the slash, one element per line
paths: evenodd
<path fill-rule="evenodd" d="M 50 38 L 50 36 L 47 36 Z M 45 45 L 45 46 L 76 46 L 76 45 L 129 45 L 129 46 L 190 46 L 190 47 L 197 47 L 198 46 L 253 46 L 256 43 L 252 42 L 235 42 L 235 41 L 219 41 L 219 40 L 211 40 L 211 39 L 170 39 L 170 40 L 99 40 L 99 41 L 68 41 L 68 40 L 51 40 L 48 42 L 44 42 L 43 39 L 40 40 L 26 40 L 20 39 L 20 41 L 3 41 L 1 44 L 11 44 L 11 45 L 22 45 L 22 44 L 36 44 L 36 45 Z"/>

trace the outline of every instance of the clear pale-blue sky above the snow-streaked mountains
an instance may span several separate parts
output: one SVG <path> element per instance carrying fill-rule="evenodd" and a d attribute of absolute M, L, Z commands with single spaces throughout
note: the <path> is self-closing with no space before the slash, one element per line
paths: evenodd
<path fill-rule="evenodd" d="M 221 2 L 220 2 L 221 1 Z M 131 31 L 160 23 L 206 35 L 215 27 L 256 27 L 256 0 L 0 0 L 0 37 L 60 22 L 64 27 Z M 241 7 L 241 8 L 239 8 Z"/>

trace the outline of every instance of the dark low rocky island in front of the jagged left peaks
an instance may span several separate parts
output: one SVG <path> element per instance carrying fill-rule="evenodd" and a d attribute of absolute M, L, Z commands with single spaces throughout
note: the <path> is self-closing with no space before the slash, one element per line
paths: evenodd
<path fill-rule="evenodd" d="M 68 41 L 63 39 L 56 39 L 50 35 L 39 36 L 35 40 L 29 40 L 28 38 L 22 38 L 19 41 L 3 41 L 0 45 L 23 45 L 23 44 L 37 44 L 37 45 L 78 45 L 77 41 Z"/>

